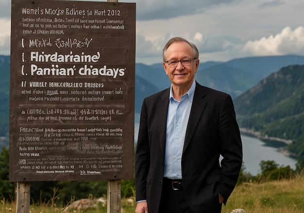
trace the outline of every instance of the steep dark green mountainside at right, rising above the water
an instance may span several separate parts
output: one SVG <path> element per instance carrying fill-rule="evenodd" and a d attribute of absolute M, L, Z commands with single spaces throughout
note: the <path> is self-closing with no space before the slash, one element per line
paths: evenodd
<path fill-rule="evenodd" d="M 287 149 L 304 160 L 304 65 L 271 73 L 234 104 L 241 128 L 291 140 Z"/>

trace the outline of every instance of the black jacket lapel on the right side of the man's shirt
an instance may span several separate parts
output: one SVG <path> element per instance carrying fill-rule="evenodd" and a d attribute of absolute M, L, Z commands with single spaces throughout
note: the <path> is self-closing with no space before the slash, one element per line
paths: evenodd
<path fill-rule="evenodd" d="M 196 127 L 202 118 L 203 110 L 207 104 L 206 98 L 204 98 L 206 94 L 203 92 L 203 87 L 196 83 L 196 88 L 194 91 L 193 102 L 191 106 L 191 111 L 189 115 L 188 125 L 186 129 L 185 143 L 183 153 L 185 152 Z"/>

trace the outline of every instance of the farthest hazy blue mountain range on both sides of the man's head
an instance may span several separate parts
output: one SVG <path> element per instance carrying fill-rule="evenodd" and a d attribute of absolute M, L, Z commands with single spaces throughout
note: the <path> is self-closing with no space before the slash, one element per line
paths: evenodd
<path fill-rule="evenodd" d="M 227 62 L 200 63 L 195 79 L 202 85 L 229 93 L 233 98 L 252 88 L 270 73 L 288 65 L 303 65 L 304 56 L 259 56 L 233 59 Z M 169 79 L 163 65 L 137 65 L 140 75 L 159 89 L 168 88 Z"/>

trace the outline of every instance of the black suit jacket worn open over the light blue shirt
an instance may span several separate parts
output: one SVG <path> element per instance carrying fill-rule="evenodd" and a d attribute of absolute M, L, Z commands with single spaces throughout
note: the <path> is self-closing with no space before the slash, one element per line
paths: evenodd
<path fill-rule="evenodd" d="M 136 200 L 157 213 L 164 173 L 169 89 L 144 99 L 136 148 Z M 220 155 L 223 160 L 219 162 Z M 195 213 L 224 204 L 242 164 L 242 144 L 230 95 L 196 82 L 182 155 L 186 200 Z"/>

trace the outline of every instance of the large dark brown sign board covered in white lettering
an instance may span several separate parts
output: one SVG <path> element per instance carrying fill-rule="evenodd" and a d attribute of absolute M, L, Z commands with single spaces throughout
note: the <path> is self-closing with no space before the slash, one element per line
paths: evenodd
<path fill-rule="evenodd" d="M 135 3 L 12 0 L 10 181 L 133 177 Z"/>

